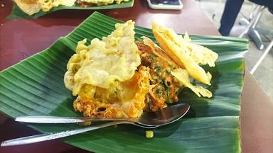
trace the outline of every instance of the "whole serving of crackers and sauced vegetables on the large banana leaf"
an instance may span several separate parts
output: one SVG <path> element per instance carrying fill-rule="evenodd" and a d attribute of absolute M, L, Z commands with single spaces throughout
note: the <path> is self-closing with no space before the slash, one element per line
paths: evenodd
<path fill-rule="evenodd" d="M 92 118 L 137 118 L 142 111 L 158 111 L 178 101 L 184 87 L 197 96 L 212 96 L 189 77 L 210 85 L 211 75 L 198 64 L 214 67 L 215 52 L 156 24 L 153 32 L 163 49 L 146 37 L 134 42 L 133 25 L 116 28 L 89 46 L 85 40 L 78 42 L 68 62 L 65 86 L 77 95 L 75 111 Z"/>

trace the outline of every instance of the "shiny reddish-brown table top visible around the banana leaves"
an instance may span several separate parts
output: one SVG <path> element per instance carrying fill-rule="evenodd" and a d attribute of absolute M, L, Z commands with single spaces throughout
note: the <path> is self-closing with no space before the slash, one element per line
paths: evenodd
<path fill-rule="evenodd" d="M 182 0 L 182 11 L 152 10 L 146 0 L 136 0 L 134 7 L 104 10 L 101 13 L 122 21 L 133 19 L 137 26 L 151 28 L 157 21 L 178 33 L 220 35 L 213 23 L 193 0 Z M 0 70 L 16 64 L 67 35 L 93 11 L 57 11 L 38 19 L 4 21 L 11 12 L 10 0 L 0 1 Z M 35 38 L 35 39 L 33 39 Z M 245 72 L 241 103 L 242 152 L 272 152 L 273 103 L 264 94 L 250 72 Z M 38 134 L 35 130 L 0 114 L 0 141 Z M 54 146 L 54 147 L 53 147 Z M 0 152 L 86 152 L 58 140 L 17 147 L 0 147 Z"/>

